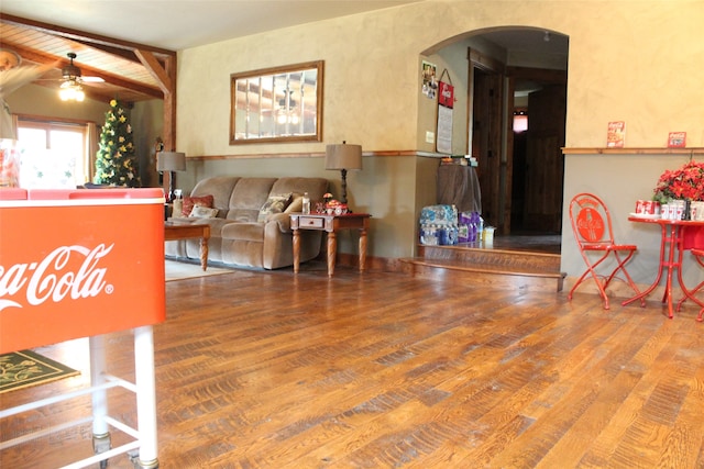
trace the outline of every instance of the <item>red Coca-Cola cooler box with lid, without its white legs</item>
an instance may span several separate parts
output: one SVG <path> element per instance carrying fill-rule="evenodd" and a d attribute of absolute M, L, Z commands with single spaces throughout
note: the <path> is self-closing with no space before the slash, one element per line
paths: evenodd
<path fill-rule="evenodd" d="M 0 353 L 165 319 L 161 189 L 0 190 Z"/>

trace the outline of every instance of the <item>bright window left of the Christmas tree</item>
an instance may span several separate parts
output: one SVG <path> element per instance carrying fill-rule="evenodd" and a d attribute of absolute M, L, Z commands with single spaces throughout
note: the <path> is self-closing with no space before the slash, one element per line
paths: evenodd
<path fill-rule="evenodd" d="M 20 187 L 75 189 L 90 180 L 89 124 L 20 118 Z"/>

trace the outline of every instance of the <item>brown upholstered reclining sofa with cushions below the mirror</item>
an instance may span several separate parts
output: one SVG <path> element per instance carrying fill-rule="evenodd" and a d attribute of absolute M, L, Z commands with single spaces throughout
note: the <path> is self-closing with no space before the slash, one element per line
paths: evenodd
<path fill-rule="evenodd" d="M 322 178 L 218 176 L 199 181 L 190 193 L 191 198 L 212 196 L 216 217 L 169 220 L 210 225 L 209 261 L 278 269 L 294 264 L 289 213 L 301 211 L 304 192 L 318 201 L 327 191 L 328 180 Z M 287 194 L 292 194 L 290 203 L 282 213 L 266 214 L 267 200 Z M 306 232 L 301 236 L 300 261 L 317 257 L 320 246 L 321 233 Z M 200 259 L 199 239 L 169 241 L 165 249 L 169 257 Z"/>

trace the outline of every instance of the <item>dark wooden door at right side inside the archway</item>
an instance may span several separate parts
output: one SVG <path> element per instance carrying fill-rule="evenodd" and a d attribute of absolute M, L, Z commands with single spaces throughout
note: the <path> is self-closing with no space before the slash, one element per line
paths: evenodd
<path fill-rule="evenodd" d="M 560 233 L 566 87 L 548 85 L 528 98 L 524 227 Z"/>

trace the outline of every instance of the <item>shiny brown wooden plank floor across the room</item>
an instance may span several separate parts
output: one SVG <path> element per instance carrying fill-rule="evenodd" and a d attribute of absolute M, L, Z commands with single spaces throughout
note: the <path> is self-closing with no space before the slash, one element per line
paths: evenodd
<path fill-rule="evenodd" d="M 520 294 L 307 266 L 166 283 L 155 327 L 162 468 L 703 468 L 704 324 L 595 295 Z M 135 299 L 135 303 L 139 299 Z M 133 373 L 111 334 L 110 371 Z M 87 340 L 44 353 L 81 377 Z M 111 413 L 134 422 L 132 398 Z M 0 423 L 2 439 L 85 413 L 87 400 Z M 123 437 L 113 434 L 113 443 Z M 7 449 L 0 467 L 90 455 L 90 428 Z M 110 468 L 132 467 L 127 457 Z"/>

